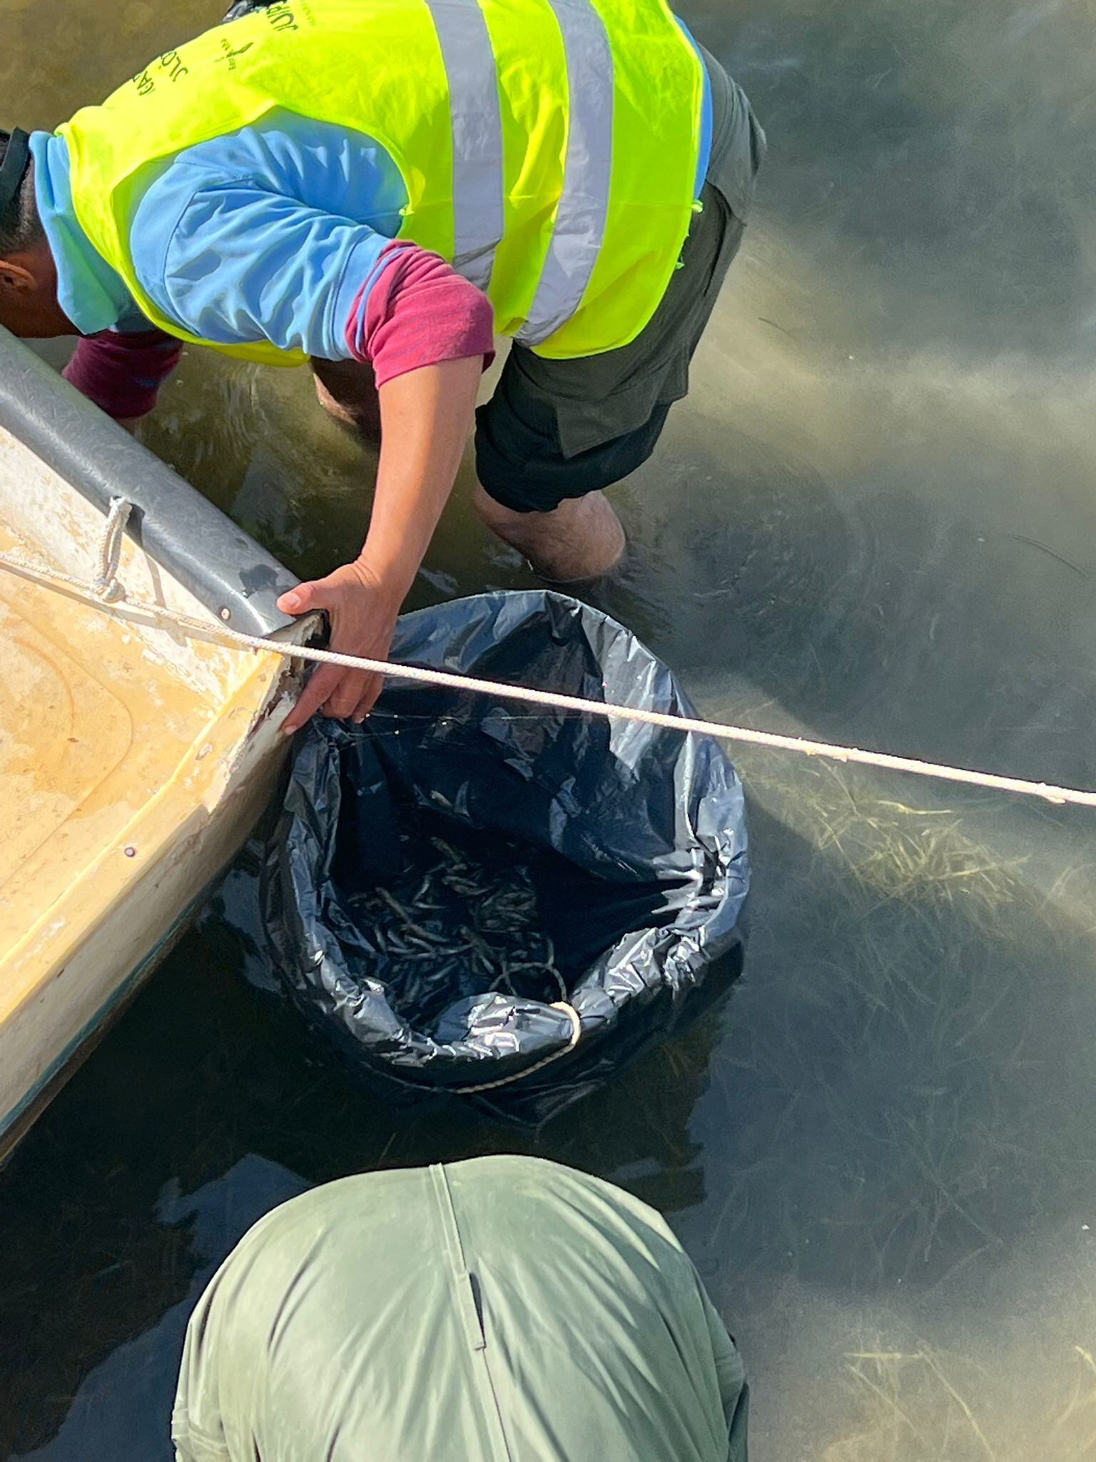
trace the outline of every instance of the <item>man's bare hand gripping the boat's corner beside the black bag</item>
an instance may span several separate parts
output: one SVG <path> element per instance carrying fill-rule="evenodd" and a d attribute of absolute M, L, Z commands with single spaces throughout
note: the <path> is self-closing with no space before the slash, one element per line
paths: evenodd
<path fill-rule="evenodd" d="M 326 610 L 332 621 L 330 648 L 342 655 L 387 659 L 399 614 L 399 598 L 386 591 L 361 563 L 348 563 L 326 579 L 314 579 L 283 594 L 282 614 Z M 282 731 L 292 735 L 316 711 L 349 716 L 361 724 L 380 694 L 381 677 L 339 665 L 320 665 L 289 712 Z"/>

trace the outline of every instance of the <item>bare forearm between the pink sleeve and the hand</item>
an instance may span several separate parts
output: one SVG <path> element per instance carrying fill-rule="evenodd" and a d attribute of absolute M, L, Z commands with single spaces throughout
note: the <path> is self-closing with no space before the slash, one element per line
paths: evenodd
<path fill-rule="evenodd" d="M 381 450 L 358 563 L 397 607 L 415 580 L 472 430 L 482 357 L 441 361 L 380 387 Z"/>

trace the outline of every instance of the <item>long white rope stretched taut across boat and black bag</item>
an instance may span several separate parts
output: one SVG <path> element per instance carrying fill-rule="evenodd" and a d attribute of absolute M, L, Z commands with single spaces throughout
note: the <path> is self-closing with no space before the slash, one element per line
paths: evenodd
<path fill-rule="evenodd" d="M 95 608 L 126 617 L 127 611 L 146 614 L 153 620 L 177 624 L 199 639 L 212 639 L 238 649 L 266 651 L 286 659 L 305 659 L 317 665 L 339 665 L 343 670 L 362 670 L 393 680 L 419 681 L 427 686 L 446 686 L 452 690 L 520 700 L 525 705 L 545 706 L 549 711 L 577 711 L 583 715 L 605 716 L 615 721 L 631 721 L 639 725 L 665 727 L 669 731 L 690 731 L 696 735 L 710 735 L 723 741 L 738 741 L 745 746 L 764 746 L 777 751 L 794 751 L 799 756 L 817 756 L 830 762 L 852 762 L 859 766 L 875 766 L 887 772 L 909 772 L 912 776 L 934 778 L 941 782 L 959 782 L 964 787 L 981 787 L 988 791 L 1011 792 L 1017 797 L 1038 797 L 1046 803 L 1071 807 L 1096 807 L 1096 792 L 1074 787 L 1054 787 L 1046 782 L 1030 782 L 1016 776 L 997 776 L 992 772 L 976 772 L 962 766 L 940 766 L 935 762 L 921 762 L 907 756 L 890 756 L 886 751 L 864 751 L 855 746 L 833 746 L 829 741 L 808 741 L 804 737 L 779 735 L 775 731 L 753 731 L 748 727 L 725 725 L 719 721 L 700 721 L 694 716 L 675 716 L 665 711 L 644 711 L 637 706 L 615 706 L 602 700 L 587 700 L 582 696 L 564 696 L 551 690 L 535 690 L 529 686 L 507 686 L 497 680 L 479 680 L 473 675 L 453 675 L 444 670 L 424 670 L 419 665 L 396 665 L 384 659 L 367 659 L 361 655 L 340 655 L 330 649 L 313 649 L 307 645 L 291 645 L 266 639 L 259 635 L 241 635 L 215 620 L 199 620 L 180 614 L 162 604 L 129 596 L 105 604 L 88 583 L 57 570 L 41 569 L 10 554 L 0 553 L 0 567 L 22 575 L 35 583 L 54 589 L 72 589 L 79 598 Z M 117 585 L 118 594 L 124 594 Z"/>

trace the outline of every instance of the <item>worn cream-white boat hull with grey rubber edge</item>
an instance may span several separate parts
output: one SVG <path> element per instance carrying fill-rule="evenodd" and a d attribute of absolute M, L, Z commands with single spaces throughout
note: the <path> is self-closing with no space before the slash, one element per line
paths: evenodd
<path fill-rule="evenodd" d="M 0 357 L 12 348 L 0 332 Z M 0 567 L 0 1159 L 275 791 L 294 662 L 228 646 L 221 626 L 298 643 L 314 630 L 272 611 L 294 582 L 279 564 L 120 428 L 89 421 L 92 408 L 41 363 L 28 368 L 48 427 L 67 412 L 70 433 L 89 433 L 117 490 L 137 499 L 118 569 L 127 598 L 196 617 L 209 636 Z M 0 553 L 91 582 L 110 475 L 94 452 L 88 463 L 86 443 L 70 461 L 20 411 L 0 399 Z M 156 472 L 167 478 L 152 491 Z"/>

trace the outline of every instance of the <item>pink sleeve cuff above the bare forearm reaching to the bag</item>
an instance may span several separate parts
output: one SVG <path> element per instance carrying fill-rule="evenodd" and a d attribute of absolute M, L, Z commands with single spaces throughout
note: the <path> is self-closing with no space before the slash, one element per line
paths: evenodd
<path fill-rule="evenodd" d="M 438 257 L 415 244 L 389 244 L 351 306 L 351 357 L 373 366 L 377 386 L 441 361 L 494 360 L 491 301 Z"/>

